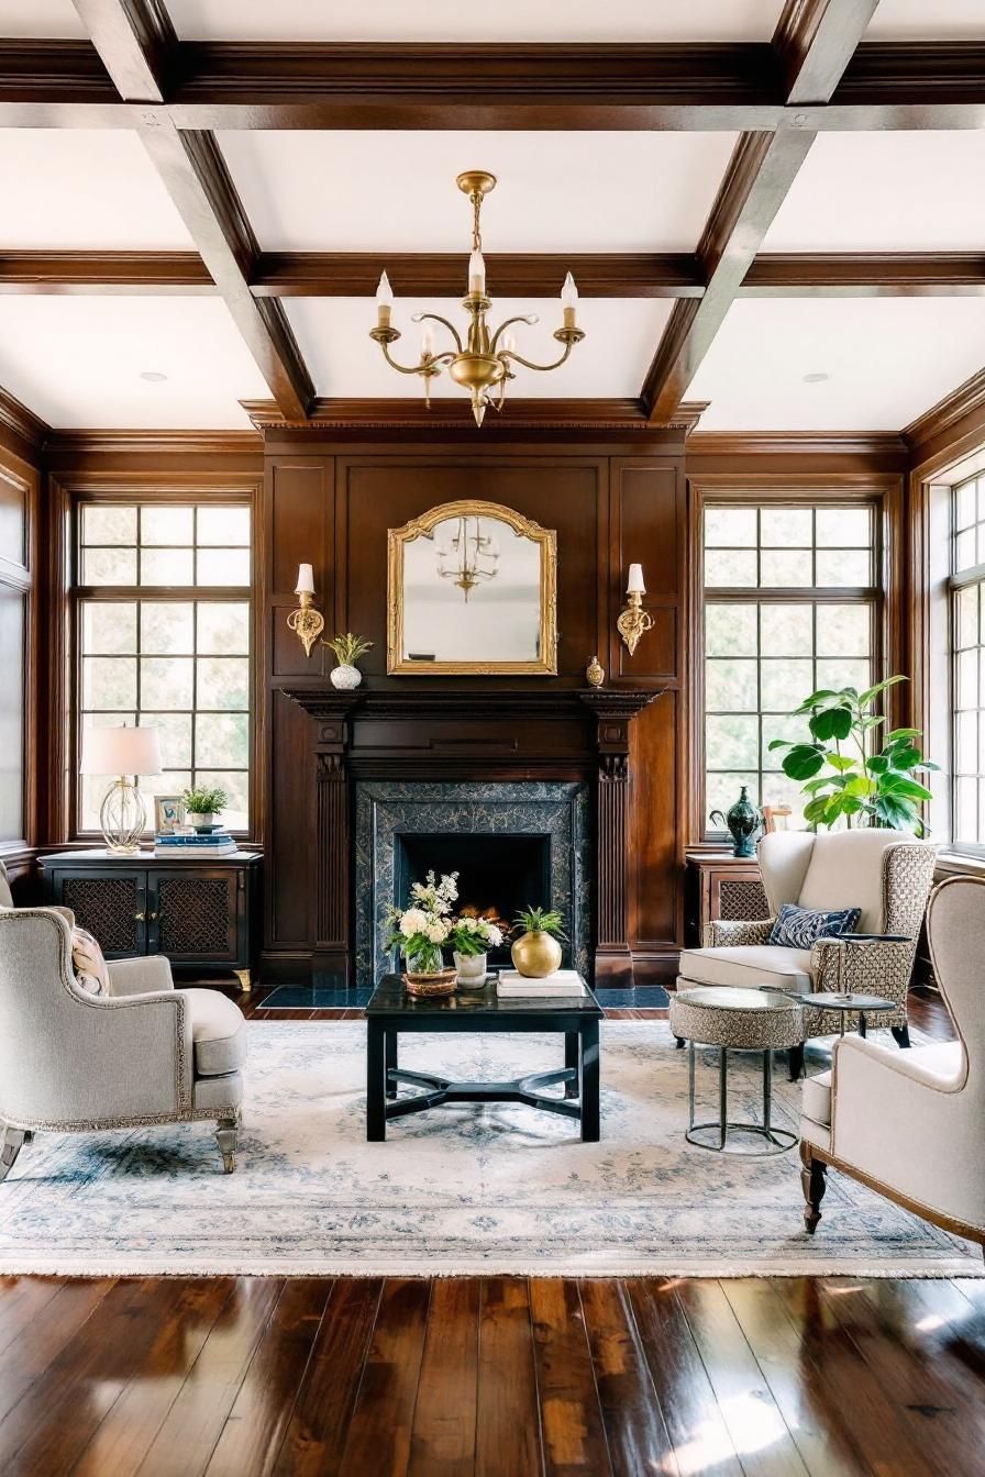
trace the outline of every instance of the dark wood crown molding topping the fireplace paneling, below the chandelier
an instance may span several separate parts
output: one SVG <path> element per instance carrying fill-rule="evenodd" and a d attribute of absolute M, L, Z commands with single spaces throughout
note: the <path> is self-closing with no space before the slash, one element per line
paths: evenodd
<path fill-rule="evenodd" d="M 471 405 L 464 399 L 431 402 L 428 409 L 424 400 L 411 399 L 319 397 L 312 405 L 306 421 L 286 419 L 273 400 L 241 400 L 239 403 L 258 431 L 428 430 L 440 433 L 471 427 L 476 434 L 480 434 L 473 421 Z M 681 405 L 678 414 L 665 425 L 650 425 L 645 409 L 638 399 L 507 400 L 501 417 L 496 417 L 495 412 L 486 415 L 481 434 L 486 436 L 489 430 L 493 430 L 496 436 L 532 430 L 631 431 L 632 434 L 676 430 L 687 433 L 697 425 L 704 409 L 704 403 Z"/>

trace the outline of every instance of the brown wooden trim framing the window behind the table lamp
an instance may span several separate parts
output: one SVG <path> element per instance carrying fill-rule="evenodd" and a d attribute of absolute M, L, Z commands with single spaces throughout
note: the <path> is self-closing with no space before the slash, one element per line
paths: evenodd
<path fill-rule="evenodd" d="M 261 634 L 261 580 L 258 566 L 261 557 L 260 539 L 260 501 L 255 480 L 242 486 L 223 483 L 222 487 L 199 487 L 193 483 L 152 487 L 142 487 L 139 479 L 133 479 L 121 487 L 71 487 L 66 520 L 66 724 L 68 724 L 68 774 L 66 774 L 66 835 L 69 842 L 92 845 L 99 837 L 99 832 L 84 830 L 80 824 L 80 775 L 78 759 L 81 753 L 81 609 L 84 601 L 134 601 L 134 600 L 182 600 L 193 601 L 229 601 L 247 604 L 250 607 L 250 709 L 248 709 L 248 738 L 247 774 L 250 778 L 250 806 L 247 830 L 236 830 L 232 835 L 244 846 L 260 843 L 261 835 L 261 713 L 260 702 L 263 696 L 263 660 L 260 647 Z M 247 507 L 250 510 L 250 583 L 248 585 L 81 585 L 81 523 L 86 505 L 143 505 L 143 507 Z M 139 535 L 137 535 L 139 536 Z M 124 545 L 121 545 L 124 546 Z M 130 546 L 130 545 L 126 545 Z M 152 545 L 154 548 L 159 545 Z M 162 545 L 161 545 L 162 546 Z M 217 545 L 219 546 L 219 545 Z M 242 545 L 239 545 L 242 546 Z M 139 569 L 137 569 L 139 575 Z"/>

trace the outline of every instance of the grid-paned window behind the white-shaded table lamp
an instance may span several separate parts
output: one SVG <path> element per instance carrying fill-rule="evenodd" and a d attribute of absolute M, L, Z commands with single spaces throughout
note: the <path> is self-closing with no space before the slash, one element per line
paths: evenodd
<path fill-rule="evenodd" d="M 142 775 L 142 790 L 219 786 L 227 827 L 250 835 L 250 505 L 80 498 L 72 619 L 75 758 L 86 728 L 155 728 L 162 774 Z M 77 835 L 99 830 L 105 789 L 102 777 L 78 781 Z"/>

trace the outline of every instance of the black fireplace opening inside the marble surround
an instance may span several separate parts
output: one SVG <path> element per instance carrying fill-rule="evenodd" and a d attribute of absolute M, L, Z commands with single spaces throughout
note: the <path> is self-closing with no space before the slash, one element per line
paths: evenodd
<path fill-rule="evenodd" d="M 428 871 L 458 871 L 458 908 L 496 916 L 508 928 L 527 904 L 551 907 L 551 837 L 527 832 L 400 832 L 396 836 L 394 902 L 406 907 L 413 882 Z M 489 963 L 509 966 L 509 944 L 490 950 Z"/>

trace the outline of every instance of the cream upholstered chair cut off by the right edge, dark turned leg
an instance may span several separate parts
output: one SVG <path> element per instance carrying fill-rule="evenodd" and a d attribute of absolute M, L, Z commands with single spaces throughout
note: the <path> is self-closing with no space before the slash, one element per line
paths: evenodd
<path fill-rule="evenodd" d="M 935 1226 L 985 1245 L 985 880 L 951 877 L 927 908 L 933 972 L 957 1041 L 893 1052 L 846 1035 L 803 1084 L 803 1220 L 821 1219 L 827 1167 Z"/>

